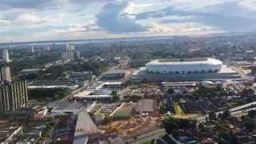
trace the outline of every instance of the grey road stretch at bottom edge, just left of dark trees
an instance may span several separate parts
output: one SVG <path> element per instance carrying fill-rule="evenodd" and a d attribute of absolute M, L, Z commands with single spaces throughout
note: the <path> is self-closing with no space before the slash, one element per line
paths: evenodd
<path fill-rule="evenodd" d="M 133 138 L 126 139 L 125 142 L 130 144 L 141 144 L 146 141 L 150 141 L 152 139 L 158 139 L 161 134 L 164 134 L 166 131 L 164 129 L 157 129 L 150 131 L 146 134 L 141 134 Z"/>

